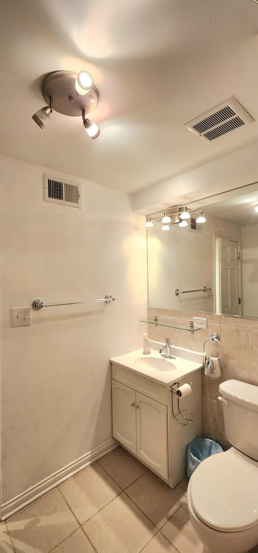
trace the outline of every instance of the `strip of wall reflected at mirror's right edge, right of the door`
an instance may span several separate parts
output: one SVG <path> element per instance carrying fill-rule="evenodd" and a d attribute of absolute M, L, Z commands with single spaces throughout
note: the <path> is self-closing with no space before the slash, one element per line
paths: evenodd
<path fill-rule="evenodd" d="M 242 227 L 243 315 L 258 317 L 258 225 Z"/>

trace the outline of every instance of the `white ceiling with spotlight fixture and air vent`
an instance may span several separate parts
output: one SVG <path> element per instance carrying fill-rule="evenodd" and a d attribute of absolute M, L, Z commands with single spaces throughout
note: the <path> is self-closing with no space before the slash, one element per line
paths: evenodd
<path fill-rule="evenodd" d="M 129 192 L 258 140 L 258 123 L 203 142 L 183 127 L 231 95 L 258 121 L 258 5 L 251 0 L 3 0 L 0 153 Z M 41 131 L 41 81 L 89 70 L 92 114 L 54 113 Z"/>

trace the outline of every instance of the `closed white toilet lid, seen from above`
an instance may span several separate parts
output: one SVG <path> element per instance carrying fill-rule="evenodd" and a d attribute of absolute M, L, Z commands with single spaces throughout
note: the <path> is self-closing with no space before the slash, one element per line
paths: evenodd
<path fill-rule="evenodd" d="M 258 524 L 258 462 L 233 447 L 209 457 L 191 477 L 191 503 L 204 524 L 224 532 Z"/>

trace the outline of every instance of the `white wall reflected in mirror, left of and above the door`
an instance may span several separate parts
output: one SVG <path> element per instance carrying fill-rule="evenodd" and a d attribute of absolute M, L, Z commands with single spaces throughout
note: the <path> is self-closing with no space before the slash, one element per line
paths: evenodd
<path fill-rule="evenodd" d="M 213 235 L 240 238 L 241 227 L 209 216 L 206 219 L 202 233 L 178 225 L 165 232 L 157 223 L 148 229 L 150 306 L 215 311 Z M 212 288 L 209 299 L 202 292 L 175 295 L 176 288 L 196 290 L 203 286 Z"/>

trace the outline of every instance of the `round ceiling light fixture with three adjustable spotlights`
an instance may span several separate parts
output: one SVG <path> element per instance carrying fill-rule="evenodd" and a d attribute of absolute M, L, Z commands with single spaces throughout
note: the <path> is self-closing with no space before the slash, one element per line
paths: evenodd
<path fill-rule="evenodd" d="M 41 129 L 45 128 L 54 109 L 70 117 L 82 115 L 88 136 L 93 139 L 99 136 L 97 124 L 85 117 L 85 113 L 96 109 L 99 100 L 98 89 L 87 71 L 80 71 L 79 74 L 73 71 L 54 71 L 44 79 L 41 92 L 48 106 L 39 109 L 32 116 Z"/>

